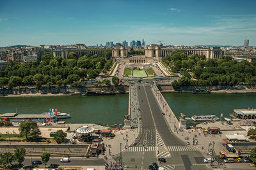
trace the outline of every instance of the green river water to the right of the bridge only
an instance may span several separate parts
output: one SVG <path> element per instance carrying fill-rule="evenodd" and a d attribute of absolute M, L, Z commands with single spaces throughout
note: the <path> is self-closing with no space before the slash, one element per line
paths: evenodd
<path fill-rule="evenodd" d="M 219 118 L 223 113 L 228 118 L 233 109 L 256 108 L 256 93 L 163 93 L 163 96 L 177 118 L 180 112 L 188 117 L 194 114 L 215 114 Z"/>

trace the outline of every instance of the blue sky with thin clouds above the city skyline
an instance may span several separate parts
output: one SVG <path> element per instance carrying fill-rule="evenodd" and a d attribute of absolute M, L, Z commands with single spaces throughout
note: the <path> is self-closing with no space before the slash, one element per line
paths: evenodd
<path fill-rule="evenodd" d="M 0 0 L 0 46 L 123 42 L 256 46 L 256 1 Z"/>

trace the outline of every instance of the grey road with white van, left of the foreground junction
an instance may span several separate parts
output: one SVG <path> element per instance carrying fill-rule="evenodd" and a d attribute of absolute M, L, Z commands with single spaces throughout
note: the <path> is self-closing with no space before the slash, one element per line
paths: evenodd
<path fill-rule="evenodd" d="M 47 166 L 50 164 L 57 164 L 59 166 L 103 166 L 106 164 L 106 161 L 102 158 L 74 158 L 70 157 L 70 162 L 60 162 L 60 159 L 62 157 L 56 158 L 51 157 L 49 162 L 47 162 Z M 40 157 L 32 157 L 33 160 L 41 160 Z M 42 160 L 41 160 L 42 161 Z M 31 165 L 31 159 L 29 157 L 26 157 L 24 162 L 24 166 L 30 166 Z"/>

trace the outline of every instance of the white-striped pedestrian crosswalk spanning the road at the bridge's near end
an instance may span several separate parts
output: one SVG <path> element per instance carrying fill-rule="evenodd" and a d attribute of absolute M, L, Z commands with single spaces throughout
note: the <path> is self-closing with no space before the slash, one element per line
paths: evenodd
<path fill-rule="evenodd" d="M 156 146 L 134 146 L 129 147 L 125 151 L 133 151 L 133 152 L 140 152 L 140 151 L 157 151 Z M 198 151 L 198 148 L 194 146 L 167 146 L 168 151 Z M 168 155 L 168 151 L 159 152 L 157 155 L 164 157 Z"/>

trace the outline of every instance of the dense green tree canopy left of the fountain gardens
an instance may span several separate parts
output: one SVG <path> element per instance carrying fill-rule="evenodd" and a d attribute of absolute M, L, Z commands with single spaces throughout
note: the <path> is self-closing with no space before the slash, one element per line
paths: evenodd
<path fill-rule="evenodd" d="M 84 81 L 87 75 L 89 79 L 94 79 L 100 72 L 111 68 L 110 58 L 111 50 L 105 51 L 102 56 L 86 54 L 80 58 L 75 52 L 70 52 L 67 59 L 45 52 L 40 62 L 9 63 L 5 70 L 0 71 L 0 88 L 36 85 L 36 88 L 40 89 L 42 85 L 49 87 L 53 84 L 61 87 L 67 83 Z M 68 77 L 69 75 L 72 76 Z"/>

